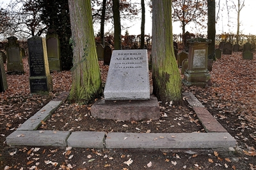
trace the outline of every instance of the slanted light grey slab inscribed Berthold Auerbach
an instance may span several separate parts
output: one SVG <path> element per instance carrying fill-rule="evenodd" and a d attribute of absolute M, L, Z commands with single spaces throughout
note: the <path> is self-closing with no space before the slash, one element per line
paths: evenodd
<path fill-rule="evenodd" d="M 104 98 L 150 99 L 147 50 L 113 50 Z"/>

